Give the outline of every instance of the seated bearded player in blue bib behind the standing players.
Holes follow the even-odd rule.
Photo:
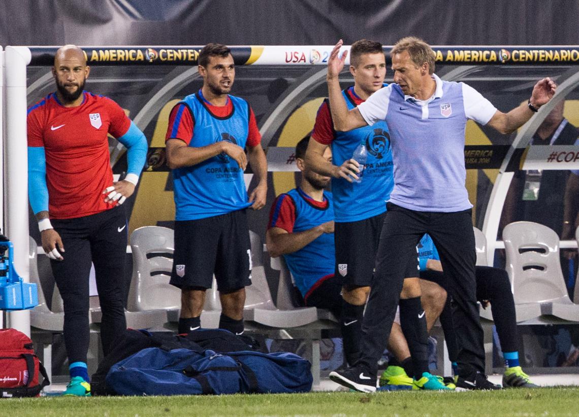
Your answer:
[[[327,308],[339,318],[342,280],[334,276],[334,202],[332,193],[324,190],[330,178],[306,167],[303,158],[308,141],[306,136],[296,145],[300,186],[273,202],[266,245],[270,256],[284,256],[305,305]],[[329,148],[324,158],[331,161]],[[349,352],[345,353],[348,357]]]

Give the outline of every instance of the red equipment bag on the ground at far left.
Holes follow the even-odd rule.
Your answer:
[[[16,329],[0,329],[0,398],[38,397],[49,384],[30,338]]]

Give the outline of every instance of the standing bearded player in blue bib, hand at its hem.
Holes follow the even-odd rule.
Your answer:
[[[245,286],[251,285],[245,208],[265,205],[267,163],[254,113],[244,99],[229,95],[235,78],[229,48],[205,46],[199,73],[203,87],[175,105],[166,135],[175,190],[171,284],[182,293],[178,331],[201,326],[205,292],[215,275],[219,327],[241,334]],[[243,179],[248,160],[258,184],[249,196]]]

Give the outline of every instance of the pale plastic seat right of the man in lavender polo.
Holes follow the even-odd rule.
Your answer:
[[[559,237],[543,224],[515,222],[503,230],[507,272],[517,321],[553,315],[579,321],[579,305],[567,294],[559,260]]]

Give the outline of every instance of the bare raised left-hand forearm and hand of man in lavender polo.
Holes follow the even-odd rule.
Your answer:
[[[328,58],[328,75],[326,76],[328,82],[329,109],[332,113],[332,120],[334,120],[334,128],[338,131],[353,130],[368,124],[360,114],[360,110],[357,108],[348,110],[346,101],[342,97],[339,76],[344,68],[344,62],[348,54],[347,51],[344,51],[342,56],[338,57],[340,47],[342,47],[343,43],[343,40],[340,39],[338,43],[336,43],[336,46],[334,46],[334,49],[332,49],[332,53]]]

